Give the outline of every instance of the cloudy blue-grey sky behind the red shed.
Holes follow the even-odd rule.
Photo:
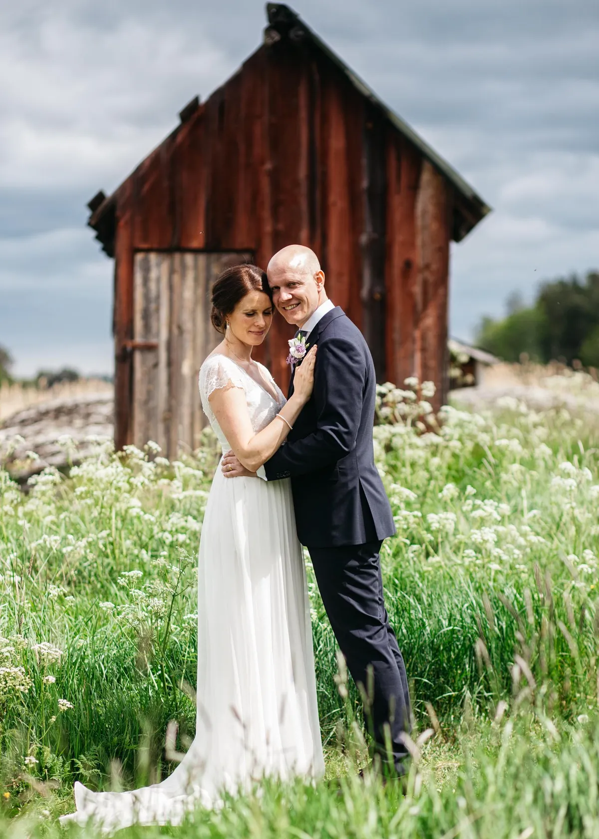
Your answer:
[[[494,211],[452,246],[451,333],[599,268],[596,0],[295,0]],[[0,344],[14,373],[112,372],[112,261],[86,227],[260,43],[255,0],[0,3]]]

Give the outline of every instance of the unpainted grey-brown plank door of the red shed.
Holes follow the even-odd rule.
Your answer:
[[[201,362],[221,341],[211,325],[211,288],[252,253],[143,252],[133,273],[133,443],[159,444],[172,459],[200,444],[205,416]]]

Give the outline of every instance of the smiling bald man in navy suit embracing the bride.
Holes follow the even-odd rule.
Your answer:
[[[375,750],[404,774],[410,731],[404,659],[383,602],[379,552],[395,533],[383,482],[374,465],[376,379],[362,333],[326,296],[325,274],[310,248],[289,245],[268,263],[273,304],[318,345],[314,391],[287,442],[258,470],[268,481],[290,477],[300,542],[310,553],[333,632],[352,678],[372,691]],[[291,376],[289,395],[293,393]],[[232,466],[232,470],[229,470]],[[230,452],[227,477],[243,473]],[[372,671],[372,674],[371,672]]]

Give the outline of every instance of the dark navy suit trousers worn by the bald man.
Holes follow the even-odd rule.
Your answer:
[[[400,735],[411,731],[409,688],[404,659],[383,600],[381,545],[382,542],[374,541],[331,548],[307,547],[347,669],[357,685],[363,685],[367,692],[372,688],[364,718],[373,737],[374,751],[383,763],[388,763],[388,729],[394,769],[404,774],[409,753]]]

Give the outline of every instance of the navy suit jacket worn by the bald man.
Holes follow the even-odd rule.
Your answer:
[[[291,478],[303,545],[326,548],[385,539],[395,526],[374,465],[376,378],[370,350],[339,306],[310,332],[307,345],[314,344],[314,391],[286,443],[264,464],[266,477]]]

